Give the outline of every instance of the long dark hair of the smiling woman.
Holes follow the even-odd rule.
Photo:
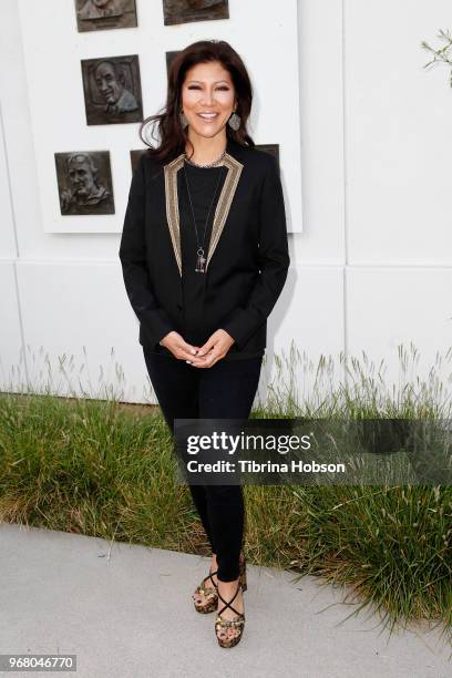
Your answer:
[[[147,154],[153,158],[158,161],[172,160],[185,152],[186,143],[189,143],[189,141],[179,120],[182,84],[186,72],[192,66],[208,61],[219,61],[229,72],[235,88],[236,113],[240,117],[240,126],[235,131],[227,124],[226,135],[244,146],[255,145],[246,129],[251,110],[253,88],[242,58],[224,40],[199,40],[186,47],[175,56],[168,72],[166,105],[161,109],[161,113],[157,115],[146,117],[140,126],[140,137],[146,146],[150,146]],[[148,124],[152,124],[153,132],[157,126],[161,140],[157,148],[144,136],[143,131]],[[155,140],[153,132],[151,137]]]

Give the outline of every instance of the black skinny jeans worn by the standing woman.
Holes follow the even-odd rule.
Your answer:
[[[165,421],[174,434],[174,419],[248,419],[259,383],[263,358],[218,360],[196,368],[185,360],[152,353],[143,347],[147,372]],[[218,578],[234,582],[239,574],[244,535],[240,485],[188,485],[217,556]]]

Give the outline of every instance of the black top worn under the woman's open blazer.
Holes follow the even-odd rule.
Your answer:
[[[207,257],[215,209],[226,174],[227,167],[224,165],[216,167],[196,167],[186,161],[184,162],[184,167],[177,174],[184,314],[184,332],[182,336],[188,343],[199,347],[208,339],[208,335],[206,335],[203,323],[204,295],[208,273],[205,274],[195,270],[197,264],[197,243],[199,242],[204,249],[204,257]],[[192,198],[193,212],[188,197],[187,184]],[[196,219],[197,237],[193,214]],[[240,360],[264,356],[264,349],[238,353],[234,351],[233,347],[234,345],[223,360]],[[161,350],[162,348],[164,349],[163,351]],[[172,352],[165,347],[158,347],[157,352],[174,358]]]

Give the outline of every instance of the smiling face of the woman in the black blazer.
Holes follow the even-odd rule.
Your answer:
[[[235,107],[235,89],[229,72],[222,63],[209,61],[189,69],[181,94],[189,137],[225,134]]]

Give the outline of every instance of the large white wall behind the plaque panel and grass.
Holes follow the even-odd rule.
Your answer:
[[[420,352],[413,380],[451,345],[452,90],[445,68],[423,70],[420,49],[450,19],[446,0],[299,0],[304,232],[289,236],[292,265],[269,320],[263,396],[273,352],[291,340],[314,369],[331,355],[335,379],[343,352],[383,359],[388,384],[399,378],[399,343]],[[33,388],[50,369],[52,392],[101,394],[106,382],[144,401],[120,235],[44,233],[16,0],[3,0],[0,31],[0,388],[22,350],[20,373]],[[299,373],[301,398],[312,380]]]

